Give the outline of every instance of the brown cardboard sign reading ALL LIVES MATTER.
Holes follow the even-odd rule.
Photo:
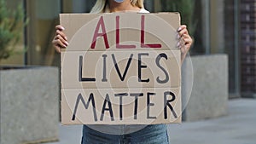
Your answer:
[[[61,124],[181,122],[179,14],[61,14],[61,26]]]

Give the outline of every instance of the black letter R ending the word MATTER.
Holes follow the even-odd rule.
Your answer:
[[[174,111],[172,105],[170,104],[172,101],[175,101],[176,96],[171,91],[166,91],[164,95],[165,95],[165,100],[164,100],[164,104],[165,104],[165,110],[164,110],[165,119],[167,119],[167,117],[168,117],[167,116],[167,107],[169,107],[171,109],[171,112],[172,112],[174,118],[177,118],[177,114]],[[172,95],[172,100],[167,100],[167,95]]]

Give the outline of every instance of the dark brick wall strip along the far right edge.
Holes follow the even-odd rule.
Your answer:
[[[256,1],[241,0],[240,7],[241,92],[256,94]]]

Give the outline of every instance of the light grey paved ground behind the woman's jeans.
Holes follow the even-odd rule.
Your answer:
[[[172,144],[256,144],[256,99],[229,101],[229,115],[168,125]],[[60,126],[60,141],[79,144],[81,126]]]

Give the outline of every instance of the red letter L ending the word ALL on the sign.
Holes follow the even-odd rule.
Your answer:
[[[142,48],[161,48],[161,44],[145,44],[145,15],[142,15],[141,21],[141,47]]]

